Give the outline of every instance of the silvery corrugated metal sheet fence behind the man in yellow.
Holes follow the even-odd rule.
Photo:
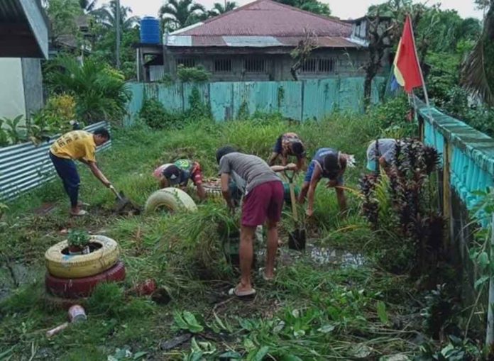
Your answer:
[[[106,122],[94,123],[84,130],[92,132],[101,127],[110,130],[110,125]],[[0,201],[15,199],[23,192],[55,177],[55,169],[48,157],[48,150],[57,138],[56,135],[40,145],[22,143],[0,148]],[[98,147],[97,151],[110,147],[111,140]]]

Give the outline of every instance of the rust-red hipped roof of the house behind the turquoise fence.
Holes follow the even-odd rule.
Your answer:
[[[351,25],[348,23],[271,0],[254,1],[172,35],[297,36],[304,35],[307,30],[317,36],[348,38],[351,35]]]

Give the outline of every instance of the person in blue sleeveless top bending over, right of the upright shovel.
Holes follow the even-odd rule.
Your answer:
[[[317,184],[322,178],[329,179],[327,188],[334,188],[336,198],[341,212],[346,211],[346,197],[343,189],[343,174],[346,167],[354,167],[355,157],[333,148],[320,148],[309,164],[309,169],[305,173],[304,183],[300,189],[299,203],[303,204],[307,195],[307,216],[314,213],[314,194]]]

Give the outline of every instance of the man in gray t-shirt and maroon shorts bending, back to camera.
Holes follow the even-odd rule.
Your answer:
[[[234,210],[234,203],[229,191],[230,177],[236,184],[245,184],[245,195],[242,204],[240,231],[240,270],[241,279],[238,285],[230,289],[229,294],[238,297],[253,296],[256,290],[251,283],[251,265],[253,260],[253,239],[257,226],[267,223],[268,252],[264,279],[273,279],[275,255],[278,249],[278,222],[281,218],[285,191],[281,179],[275,172],[295,170],[296,165],[269,165],[256,155],[237,152],[235,148],[226,146],[216,151],[216,161],[221,175],[221,192],[226,204]]]

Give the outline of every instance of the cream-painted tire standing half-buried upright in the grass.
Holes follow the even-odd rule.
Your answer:
[[[194,199],[190,195],[178,188],[163,188],[151,194],[146,201],[144,209],[146,212],[154,212],[159,208],[165,208],[172,212],[197,211]]]

